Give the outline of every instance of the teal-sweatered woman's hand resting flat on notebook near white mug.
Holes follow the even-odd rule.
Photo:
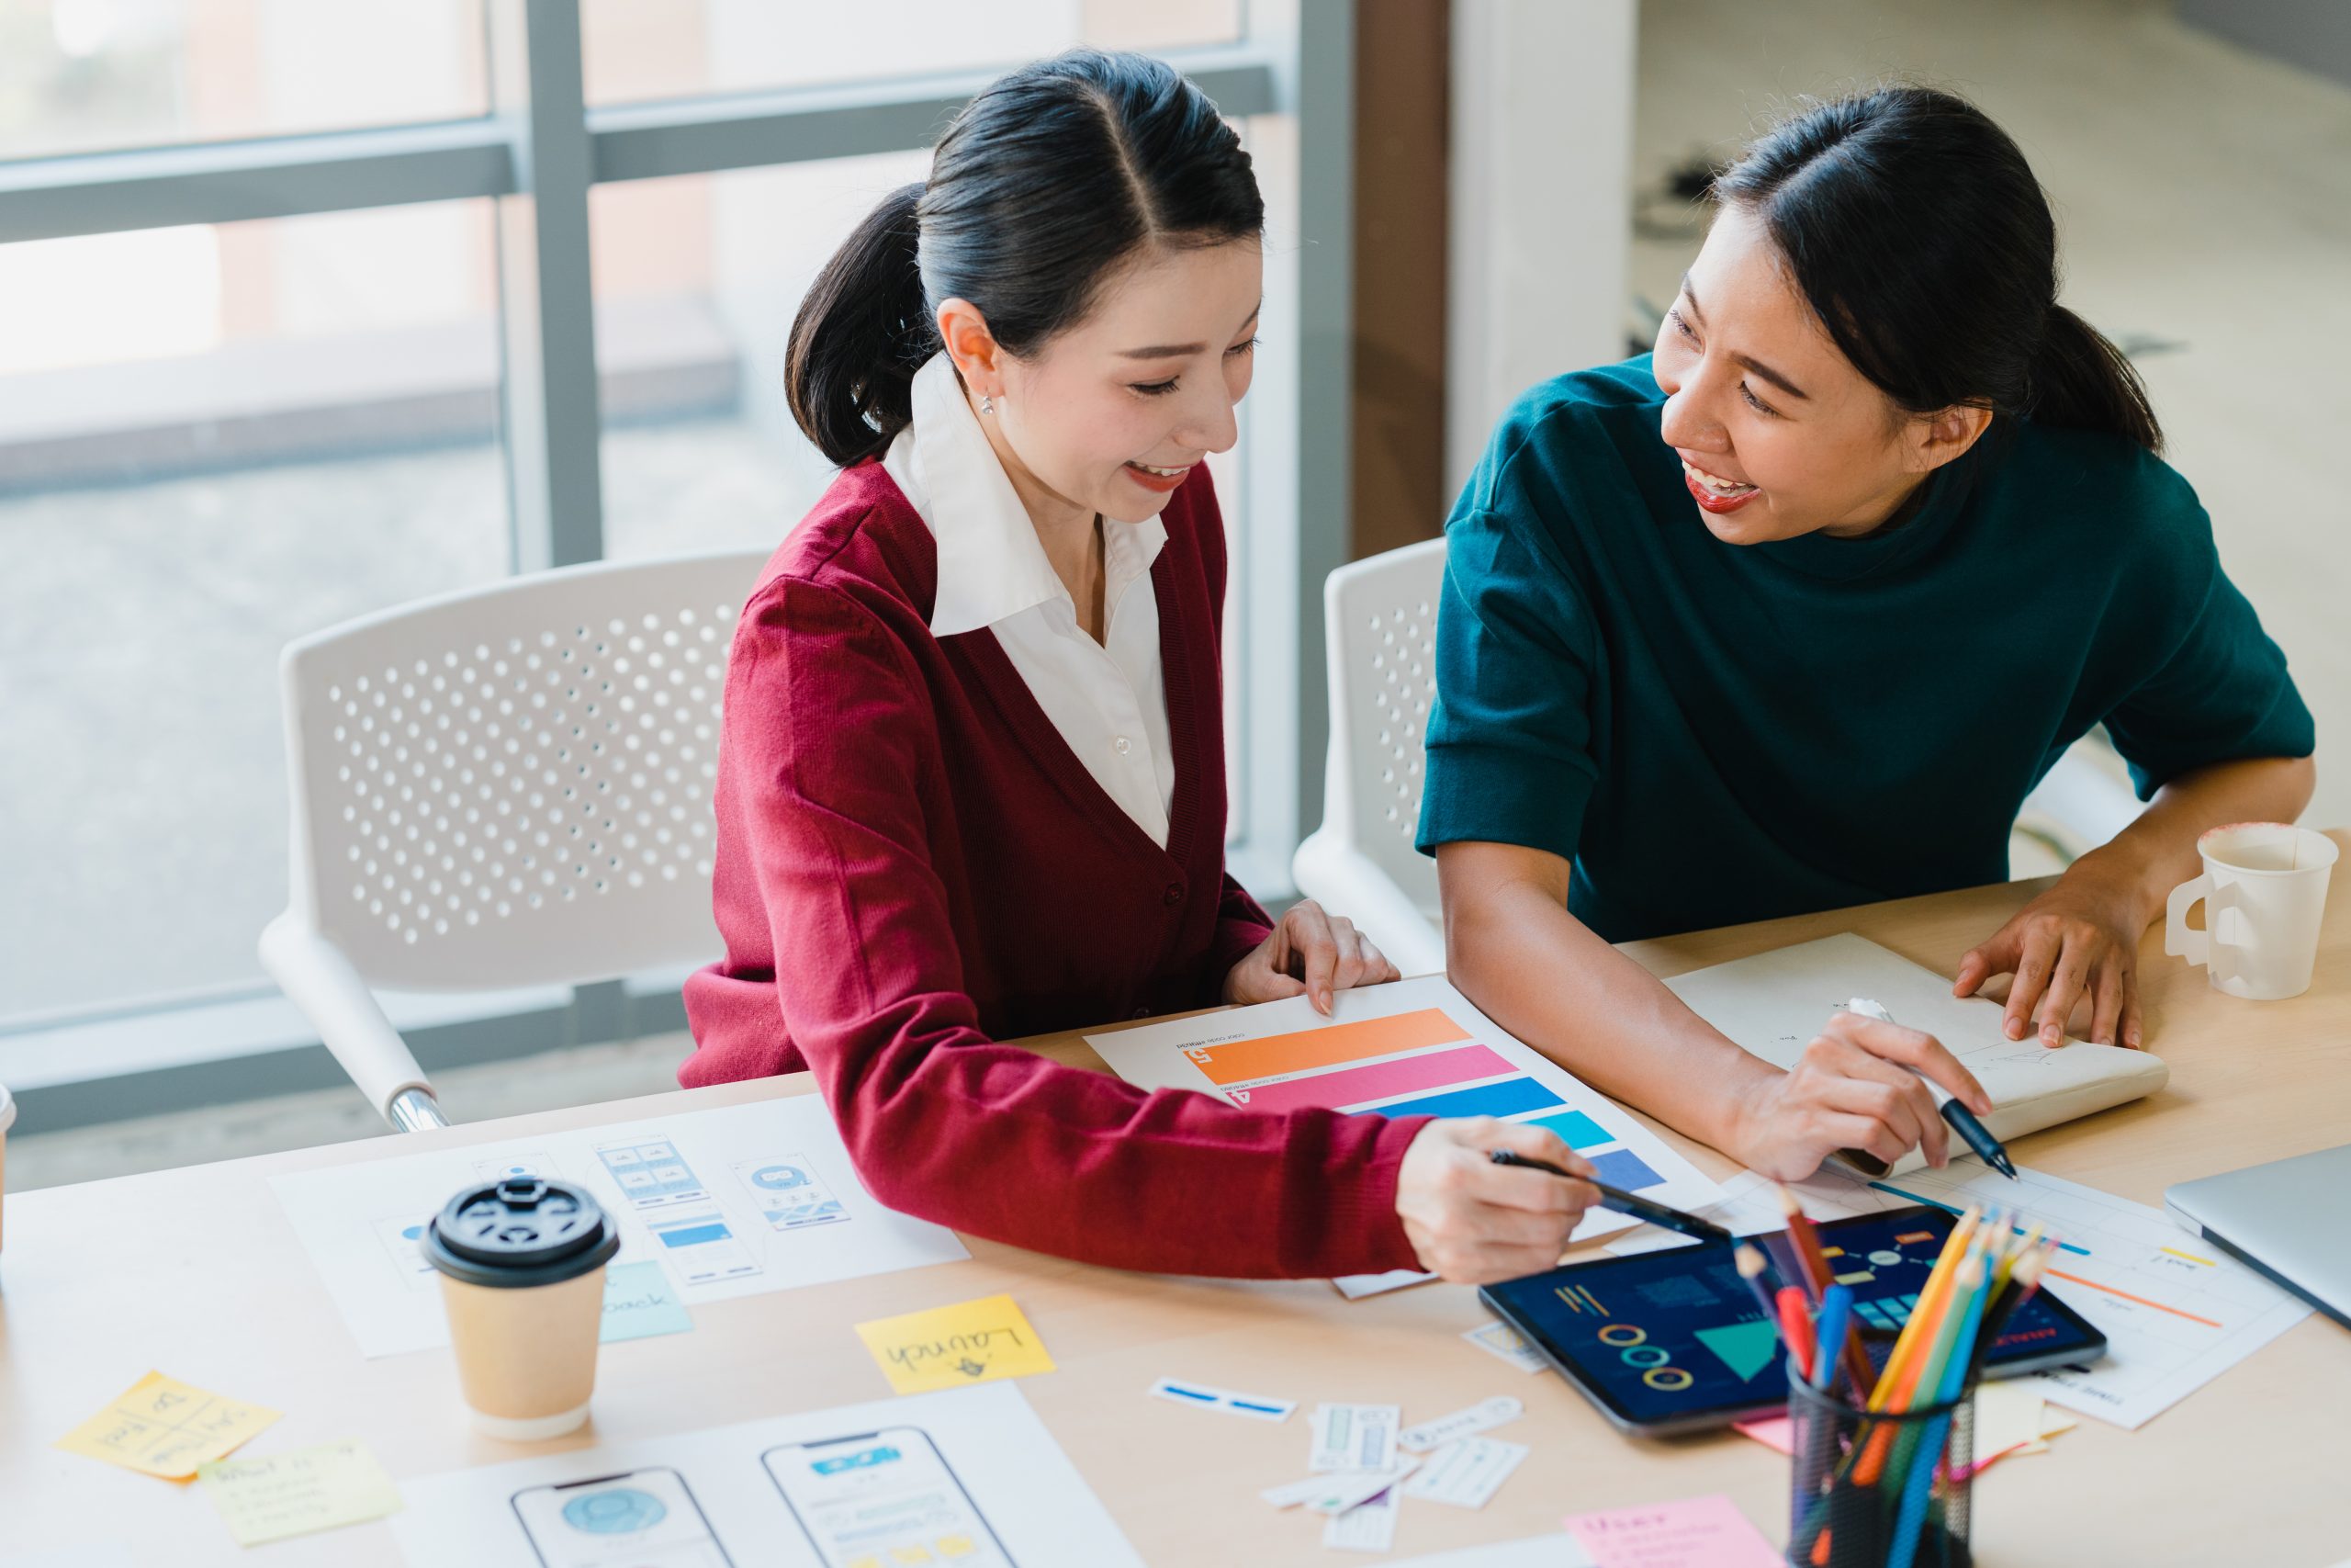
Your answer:
[[[1958,961],[1951,994],[1972,997],[1984,980],[2012,973],[2008,1039],[2038,1027],[2043,1046],[2062,1046],[2074,1006],[2088,1001],[2090,1039],[2137,1051],[2139,938],[2149,919],[2137,879],[2109,875],[2090,858],[2076,860],[2057,886]]]

